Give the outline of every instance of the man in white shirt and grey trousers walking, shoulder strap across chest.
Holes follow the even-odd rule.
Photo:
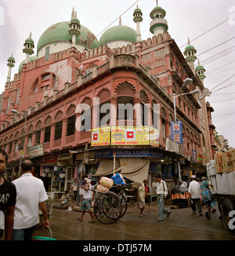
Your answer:
[[[157,207],[158,207],[158,222],[163,221],[163,214],[167,214],[167,218],[169,218],[170,214],[172,213],[168,209],[164,207],[164,198],[168,195],[168,189],[165,181],[161,180],[161,175],[157,174],[155,176],[157,183]]]

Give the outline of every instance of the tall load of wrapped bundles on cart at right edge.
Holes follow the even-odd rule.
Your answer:
[[[235,149],[216,153],[206,167],[212,194],[235,195]]]

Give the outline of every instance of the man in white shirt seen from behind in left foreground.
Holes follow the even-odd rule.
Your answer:
[[[16,207],[14,214],[12,240],[31,240],[34,226],[38,224],[38,204],[41,207],[44,221],[43,227],[49,227],[45,200],[48,196],[42,180],[31,172],[33,164],[27,159],[21,163],[21,177],[13,181],[16,185]]]

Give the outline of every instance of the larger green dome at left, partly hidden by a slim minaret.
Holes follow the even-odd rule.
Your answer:
[[[63,21],[49,27],[39,38],[37,50],[39,51],[43,46],[53,42],[70,42],[72,35],[69,35],[68,32],[70,30],[69,24],[69,21]],[[77,43],[92,49],[99,46],[96,36],[87,27],[81,25],[80,33]]]

